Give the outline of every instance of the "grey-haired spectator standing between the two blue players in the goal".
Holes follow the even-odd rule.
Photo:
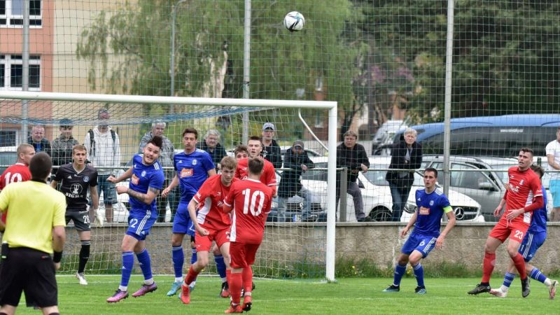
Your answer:
[[[164,167],[164,171],[163,171],[165,174],[164,185],[169,186],[169,181],[171,181],[173,179],[173,176],[175,176],[175,172],[173,169],[173,156],[174,156],[175,148],[171,140],[169,140],[169,138],[163,135],[163,132],[165,132],[165,127],[167,127],[166,123],[153,123],[152,130],[146,132],[146,134],[144,134],[144,137],[142,137],[142,139],[140,140],[140,148],[138,150],[138,153],[139,154],[144,153],[144,147],[154,136],[162,137],[163,144],[162,144],[162,150],[160,151],[159,160],[162,167]],[[171,209],[172,212],[174,212],[175,209],[177,209],[178,197],[179,196],[177,195],[176,188],[169,192],[169,196],[167,197],[167,200],[169,200],[169,209]],[[167,211],[167,200],[158,197],[158,201],[156,202],[158,206],[157,222],[160,223],[165,222],[165,213]]]

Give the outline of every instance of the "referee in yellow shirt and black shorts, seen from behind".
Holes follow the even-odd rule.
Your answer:
[[[59,314],[55,268],[66,239],[66,200],[46,183],[51,168],[48,154],[37,153],[29,162],[31,181],[10,184],[0,193],[0,211],[10,208],[1,251],[0,315],[15,313],[22,291],[27,307]]]

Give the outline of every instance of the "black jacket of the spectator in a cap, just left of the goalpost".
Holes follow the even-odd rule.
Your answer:
[[[302,165],[307,166],[308,169],[315,167],[307,152],[303,151],[302,154],[297,155],[293,153],[292,148],[288,148],[286,155],[284,155],[284,167],[287,170],[282,172],[282,178],[278,186],[278,197],[289,198],[302,189],[302,182],[300,181],[300,176],[303,173]]]

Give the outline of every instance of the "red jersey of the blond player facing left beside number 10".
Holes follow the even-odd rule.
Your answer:
[[[233,183],[239,179],[233,179]],[[230,228],[230,214],[223,212],[223,200],[230,193],[230,186],[224,186],[222,175],[214,175],[204,181],[193,199],[198,204],[197,222],[203,228],[223,230]]]

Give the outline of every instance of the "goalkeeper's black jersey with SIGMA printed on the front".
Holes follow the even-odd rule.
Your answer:
[[[60,192],[66,197],[66,211],[85,211],[87,190],[97,186],[97,169],[85,165],[78,172],[72,163],[68,163],[58,169],[55,181],[60,183]]]

